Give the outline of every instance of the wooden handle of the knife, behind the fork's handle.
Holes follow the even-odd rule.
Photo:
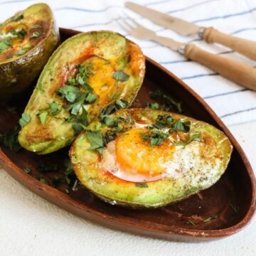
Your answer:
[[[230,36],[213,27],[204,29],[203,40],[207,43],[220,43],[223,46],[227,46],[228,48],[245,55],[247,58],[256,60],[256,41],[238,38],[237,36]]]

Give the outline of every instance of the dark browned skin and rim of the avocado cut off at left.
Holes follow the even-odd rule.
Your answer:
[[[58,27],[55,25],[50,7],[47,4],[34,4],[29,6],[28,9],[33,10],[35,7],[48,10],[51,29],[47,31],[46,37],[35,48],[29,50],[28,53],[21,55],[20,58],[7,60],[0,64],[1,101],[18,97],[19,92],[26,90],[36,80],[53,50],[60,43]]]

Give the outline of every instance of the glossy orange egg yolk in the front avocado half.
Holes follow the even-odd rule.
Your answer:
[[[114,176],[133,182],[157,181],[164,178],[175,150],[171,140],[151,146],[142,139],[145,127],[133,128],[119,135],[115,141]]]

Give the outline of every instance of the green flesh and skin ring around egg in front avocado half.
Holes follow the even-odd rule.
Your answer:
[[[114,113],[114,115],[118,114],[122,117],[125,117],[126,114],[131,114],[132,119],[134,117],[146,117],[146,119],[152,120],[156,119],[159,114],[171,114],[175,120],[186,119],[191,122],[192,127],[195,127],[193,132],[198,131],[210,134],[216,145],[209,144],[208,146],[216,147],[218,151],[215,152],[218,152],[218,156],[216,156],[216,162],[209,161],[215,159],[215,156],[213,156],[215,152],[211,152],[212,149],[209,148],[210,153],[214,154],[208,158],[208,151],[201,151],[200,156],[206,159],[206,162],[209,161],[209,166],[206,166],[205,170],[200,168],[193,169],[185,176],[178,178],[166,177],[159,181],[148,182],[148,188],[140,188],[135,186],[133,182],[122,181],[111,175],[102,175],[98,164],[100,161],[99,154],[89,149],[91,145],[87,139],[86,132],[82,132],[70,149],[71,163],[82,185],[102,201],[134,209],[159,208],[181,201],[213,186],[224,174],[230,161],[233,146],[230,144],[228,137],[212,125],[181,114],[159,110],[129,109],[119,110]],[[105,125],[102,126],[100,122],[93,122],[88,128],[92,130],[100,129],[102,133],[107,131]],[[204,152],[206,154],[203,154]]]

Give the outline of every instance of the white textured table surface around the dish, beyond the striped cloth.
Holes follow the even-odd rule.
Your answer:
[[[230,127],[256,169],[256,122]],[[256,218],[229,238],[198,244],[143,238],[61,210],[0,170],[0,255],[256,255]]]

